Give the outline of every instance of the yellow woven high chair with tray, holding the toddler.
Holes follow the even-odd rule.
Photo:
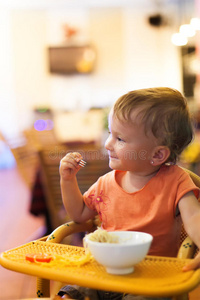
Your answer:
[[[200,177],[186,170],[200,188]],[[182,267],[193,258],[198,249],[187,237],[184,228],[177,258],[146,256],[128,275],[111,275],[103,266],[92,261],[83,266],[61,266],[30,263],[25,261],[27,253],[51,253],[71,257],[83,255],[83,247],[62,244],[66,236],[77,232],[91,232],[99,226],[98,218],[86,223],[65,223],[56,228],[48,237],[3,252],[0,263],[7,269],[37,277],[37,297],[50,296],[50,280],[66,284],[77,284],[94,289],[125,292],[149,297],[171,297],[173,300],[187,300],[188,293],[200,283],[200,269],[182,272]],[[54,293],[57,291],[54,290]],[[92,299],[91,299],[92,300]]]

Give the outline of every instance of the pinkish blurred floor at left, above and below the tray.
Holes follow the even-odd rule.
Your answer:
[[[30,190],[16,168],[0,170],[0,252],[43,235],[44,218],[29,213]],[[36,297],[36,279],[0,266],[0,300]],[[200,286],[190,293],[200,300]]]

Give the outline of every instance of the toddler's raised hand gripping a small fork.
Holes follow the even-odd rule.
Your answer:
[[[63,180],[71,180],[76,176],[80,170],[79,165],[82,156],[78,152],[71,152],[66,154],[60,161],[60,176]]]

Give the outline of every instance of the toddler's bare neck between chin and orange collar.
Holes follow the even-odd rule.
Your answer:
[[[154,170],[150,174],[140,175],[131,172],[126,172],[121,174],[119,178],[120,186],[128,193],[134,193],[141,190],[147,182],[154,177],[159,169]]]

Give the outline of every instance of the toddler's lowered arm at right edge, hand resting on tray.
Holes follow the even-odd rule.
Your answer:
[[[200,249],[200,203],[193,192],[189,192],[179,201],[179,210],[187,234]],[[200,253],[191,263],[183,267],[183,271],[200,268]]]

